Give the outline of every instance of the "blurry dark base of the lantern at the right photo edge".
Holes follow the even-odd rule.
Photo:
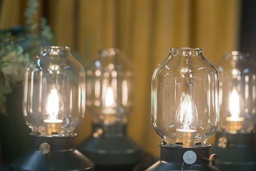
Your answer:
[[[216,142],[210,151],[219,157],[218,168],[227,171],[255,170],[255,138],[255,133],[216,132]]]

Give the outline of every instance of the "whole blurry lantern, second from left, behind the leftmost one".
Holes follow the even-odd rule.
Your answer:
[[[102,49],[86,69],[86,106],[93,133],[77,149],[96,170],[131,170],[141,160],[141,148],[126,135],[133,108],[134,70],[117,48]]]

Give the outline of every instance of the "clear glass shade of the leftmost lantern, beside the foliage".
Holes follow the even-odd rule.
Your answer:
[[[68,47],[41,47],[28,63],[24,117],[32,134],[73,135],[85,111],[85,72]]]

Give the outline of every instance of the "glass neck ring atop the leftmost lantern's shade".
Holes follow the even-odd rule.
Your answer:
[[[45,46],[40,47],[40,54],[42,56],[51,55],[58,57],[67,57],[70,54],[69,47],[61,47],[61,46]]]

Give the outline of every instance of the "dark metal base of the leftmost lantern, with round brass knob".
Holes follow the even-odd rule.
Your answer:
[[[30,149],[10,164],[9,171],[94,170],[94,163],[74,148],[75,135],[30,136]]]

